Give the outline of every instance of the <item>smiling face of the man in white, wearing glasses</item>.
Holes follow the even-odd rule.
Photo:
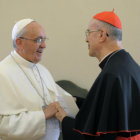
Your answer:
[[[46,48],[45,38],[43,28],[37,22],[32,22],[25,27],[25,33],[22,37],[18,38],[20,43],[17,45],[17,52],[24,59],[37,63],[41,60],[44,48]],[[37,39],[42,41],[39,43]]]

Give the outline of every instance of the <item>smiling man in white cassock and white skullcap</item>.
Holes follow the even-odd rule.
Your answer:
[[[12,40],[14,51],[0,62],[0,139],[58,140],[57,96],[69,94],[38,63],[46,48],[44,29],[20,20]]]

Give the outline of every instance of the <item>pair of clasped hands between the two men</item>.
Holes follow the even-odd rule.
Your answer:
[[[67,116],[67,113],[60,106],[59,102],[53,102],[44,109],[45,118],[50,119],[52,117],[56,117],[60,122],[62,122],[63,118]]]

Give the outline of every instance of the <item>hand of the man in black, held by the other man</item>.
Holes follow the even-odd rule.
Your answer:
[[[60,122],[62,122],[64,117],[67,116],[67,113],[64,111],[64,109],[59,104],[57,104],[56,108],[57,108],[57,113],[55,114],[55,116]]]

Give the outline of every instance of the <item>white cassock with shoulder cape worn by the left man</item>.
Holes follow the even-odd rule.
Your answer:
[[[0,138],[58,140],[58,120],[46,121],[42,110],[43,98],[50,104],[56,101],[56,96],[69,95],[64,90],[58,93],[58,88],[45,67],[11,52],[0,62]]]

